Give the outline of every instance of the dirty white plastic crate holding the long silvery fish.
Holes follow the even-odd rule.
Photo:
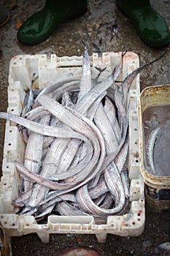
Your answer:
[[[120,62],[121,53],[97,53],[90,56],[92,75],[98,72],[95,66],[107,67],[100,79],[107,78]],[[136,53],[128,52],[124,57],[123,72],[119,80],[139,67]],[[20,115],[25,96],[24,89],[31,87],[43,89],[66,77],[82,74],[82,56],[61,57],[51,55],[20,55],[12,58],[9,64],[8,109],[9,113]],[[63,217],[51,215],[47,224],[37,224],[32,216],[13,214],[12,200],[18,197],[20,178],[15,169],[15,159],[23,160],[24,143],[16,124],[7,121],[4,139],[3,176],[0,182],[0,221],[7,235],[23,236],[37,233],[42,242],[48,242],[52,233],[95,234],[98,242],[105,242],[107,233],[117,236],[139,236],[144,231],[144,184],[139,165],[139,116],[138,101],[140,95],[139,75],[130,89],[131,105],[129,111],[129,159],[130,178],[129,212],[122,216],[109,216],[105,224],[96,224],[93,217]]]

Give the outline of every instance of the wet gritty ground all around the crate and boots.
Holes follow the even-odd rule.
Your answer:
[[[16,23],[23,22],[29,15],[41,9],[45,1],[18,0],[14,10],[10,11],[9,22],[0,29],[0,107],[7,110],[7,86],[9,61],[18,54],[55,53],[57,56],[81,56],[83,45],[81,39],[88,37],[88,52],[91,55],[98,48],[102,52],[131,50],[139,55],[140,65],[160,56],[166,48],[152,49],[144,45],[137,37],[134,26],[115,5],[115,1],[90,0],[88,12],[75,20],[67,20],[56,29],[55,33],[39,45],[28,46],[18,42]],[[154,0],[153,6],[166,19],[170,26],[169,1]],[[117,34],[112,28],[117,26]],[[148,67],[140,75],[141,90],[147,86],[169,84],[169,55]],[[4,124],[0,124],[0,154],[2,158],[4,143]],[[146,226],[144,233],[138,237],[107,236],[105,244],[99,244],[94,235],[52,235],[49,244],[42,244],[36,234],[12,238],[12,255],[50,255],[66,246],[90,246],[101,255],[161,255],[155,249],[158,244],[170,241],[169,211],[155,212],[146,206]]]

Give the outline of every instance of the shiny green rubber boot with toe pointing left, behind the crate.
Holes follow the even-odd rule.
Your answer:
[[[64,20],[83,15],[87,5],[87,0],[47,0],[42,10],[20,26],[18,40],[28,45],[45,41]]]

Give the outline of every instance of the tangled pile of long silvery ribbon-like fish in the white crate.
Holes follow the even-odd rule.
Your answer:
[[[85,45],[82,75],[57,81],[26,97],[20,116],[0,113],[19,125],[26,143],[15,213],[37,220],[50,214],[106,219],[127,211],[129,203],[128,111],[134,70],[123,82],[120,64],[103,81],[92,79]]]

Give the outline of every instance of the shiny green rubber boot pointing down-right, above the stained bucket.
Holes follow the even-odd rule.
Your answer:
[[[131,18],[137,34],[146,45],[156,48],[170,42],[166,20],[151,7],[149,0],[117,0],[117,7]]]

